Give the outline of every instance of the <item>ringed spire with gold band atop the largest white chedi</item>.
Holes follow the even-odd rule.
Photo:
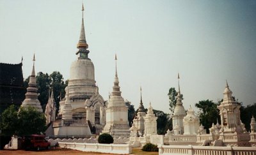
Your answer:
[[[90,51],[86,50],[88,48],[88,44],[86,42],[85,31],[84,31],[84,4],[82,5],[82,26],[81,26],[79,41],[77,43],[77,48],[79,50],[76,52],[76,54],[79,54],[79,58],[88,59],[88,54]]]

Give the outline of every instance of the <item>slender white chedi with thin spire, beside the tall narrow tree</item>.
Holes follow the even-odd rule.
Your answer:
[[[172,126],[173,126],[174,135],[182,135],[184,133],[183,118],[186,116],[186,111],[182,104],[182,96],[180,94],[179,79],[180,79],[180,75],[178,73],[179,91],[177,94],[176,107],[174,108],[174,112],[172,116]]]

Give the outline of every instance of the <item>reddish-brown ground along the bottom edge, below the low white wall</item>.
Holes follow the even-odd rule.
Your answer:
[[[57,155],[57,154],[63,154],[63,155],[69,155],[69,154],[99,154],[99,155],[109,155],[104,153],[95,153],[95,152],[82,152],[82,151],[76,151],[71,149],[51,149],[51,150],[42,150],[42,151],[24,151],[24,150],[0,150],[0,155],[16,155],[16,154],[26,154],[26,155],[45,155],[45,154],[51,154],[51,155]],[[150,154],[150,155],[156,155],[158,152],[144,152],[141,151],[141,148],[133,148],[132,154]]]

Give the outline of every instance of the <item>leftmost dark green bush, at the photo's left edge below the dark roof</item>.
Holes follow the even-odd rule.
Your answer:
[[[10,105],[1,114],[1,135],[17,135],[19,129],[19,118],[15,105]]]

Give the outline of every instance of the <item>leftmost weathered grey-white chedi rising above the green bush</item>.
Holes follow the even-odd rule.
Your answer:
[[[38,93],[37,93],[37,86],[36,86],[36,75],[35,75],[35,54],[33,57],[33,68],[31,75],[29,77],[29,83],[27,92],[25,94],[26,98],[22,102],[22,105],[20,107],[34,107],[38,112],[43,112],[42,106],[40,104],[40,101],[38,100]]]

